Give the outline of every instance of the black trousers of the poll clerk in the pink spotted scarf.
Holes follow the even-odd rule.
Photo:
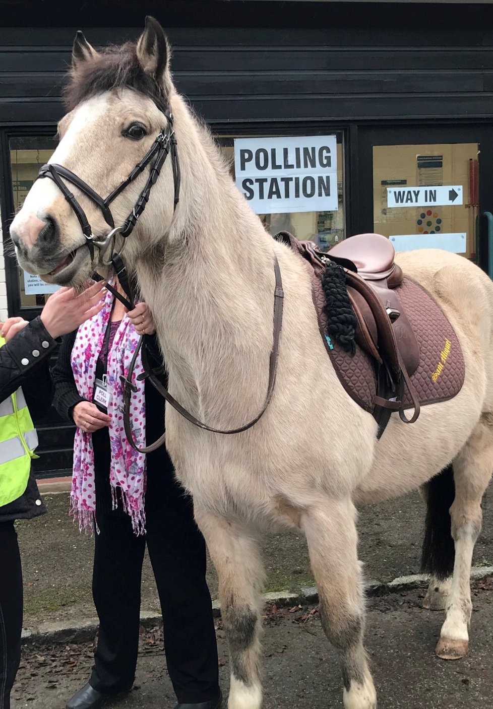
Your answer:
[[[218,696],[218,657],[205,542],[192,500],[177,484],[164,451],[148,456],[145,537],[137,537],[121,505],[111,509],[109,447],[93,435],[96,522],[93,596],[99,640],[90,679],[94,689],[131,688],[138,652],[140,580],[147,544],[160,597],[167,669],[177,700],[200,703]]]

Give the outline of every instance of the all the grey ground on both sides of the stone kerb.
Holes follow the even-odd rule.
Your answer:
[[[23,659],[12,709],[63,709],[89,676],[96,619],[91,597],[91,535],[67,516],[67,493],[47,493],[48,515],[18,523],[25,582]],[[456,662],[435,657],[443,613],[421,608],[426,580],[396,576],[419,572],[424,509],[412,493],[360,510],[360,558],[368,586],[366,644],[379,709],[476,709],[493,706],[493,504],[483,503],[484,525],[473,574],[475,613],[470,655]],[[267,568],[263,709],[342,707],[336,652],[321,631],[304,537],[296,531],[265,535]],[[208,582],[217,597],[209,564]],[[187,592],[186,588],[183,590]],[[291,595],[289,595],[291,594]],[[384,595],[382,595],[384,594]],[[279,601],[272,607],[272,599]],[[160,607],[145,559],[143,627],[135,688],[118,706],[172,709],[175,697],[162,652]],[[221,686],[228,688],[228,652],[216,618]]]

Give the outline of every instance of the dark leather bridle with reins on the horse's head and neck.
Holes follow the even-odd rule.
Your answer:
[[[160,108],[160,106],[157,106]],[[66,167],[63,167],[62,165],[55,164],[55,163],[47,163],[43,165],[43,167],[40,168],[40,171],[38,173],[38,179],[41,179],[43,177],[49,177],[50,179],[55,182],[55,184],[58,186],[60,191],[62,192],[63,196],[65,196],[65,199],[67,202],[70,204],[72,207],[75,216],[77,216],[77,219],[79,220],[79,224],[82,228],[82,233],[84,234],[84,238],[86,240],[87,247],[89,248],[89,253],[91,255],[91,259],[94,260],[94,247],[97,247],[101,253],[104,254],[106,252],[107,248],[109,247],[111,241],[113,240],[113,248],[114,248],[114,242],[115,242],[115,236],[116,234],[120,234],[123,237],[123,245],[125,244],[126,238],[131,235],[133,228],[135,227],[135,224],[137,223],[138,218],[140,215],[143,213],[146,204],[149,201],[149,196],[150,196],[150,190],[153,187],[153,184],[155,184],[157,178],[159,177],[159,174],[161,172],[162,165],[164,164],[167,156],[170,154],[172,155],[172,162],[173,162],[173,181],[175,184],[175,197],[174,197],[174,205],[173,205],[173,211],[176,210],[177,203],[179,201],[179,187],[180,187],[180,170],[179,170],[179,160],[178,160],[178,152],[177,152],[177,140],[175,137],[175,131],[173,130],[173,115],[171,111],[163,110],[160,108],[162,113],[165,114],[168,125],[167,128],[162,128],[160,133],[157,135],[155,138],[155,141],[153,145],[151,145],[150,150],[148,151],[147,155],[143,157],[143,160],[139,162],[138,165],[134,167],[132,170],[131,174],[128,175],[126,180],[123,180],[121,184],[116,187],[116,189],[113,189],[111,194],[109,194],[106,199],[103,199],[99,194],[97,194],[92,187],[90,187],[87,182],[84,182],[83,179],[78,177],[74,172],[71,170],[67,169]],[[110,204],[111,202],[118,197],[119,194],[123,192],[126,187],[135,180],[138,175],[140,175],[141,172],[150,165],[150,172],[149,172],[149,177],[147,181],[145,182],[145,186],[143,190],[140,193],[140,196],[138,200],[135,202],[135,206],[133,207],[131,213],[128,215],[126,218],[125,222],[121,226],[115,227],[115,222],[113,219],[113,215],[111,214],[111,209],[110,209]],[[104,217],[104,220],[106,221],[106,224],[108,224],[111,227],[111,231],[109,232],[108,235],[104,239],[98,239],[92,232],[91,225],[89,224],[89,220],[87,219],[87,216],[82,209],[82,206],[80,206],[79,202],[77,199],[75,199],[74,195],[70,191],[70,189],[67,187],[65,182],[63,182],[63,179],[67,180],[67,182],[70,182],[74,184],[76,187],[78,187],[84,194],[86,194],[89,199],[91,199],[96,206],[99,207],[101,210],[101,213]],[[118,280],[121,283],[121,286],[123,287],[123,290],[126,292],[128,296],[128,300],[124,298],[121,294],[116,291],[116,289],[113,289],[113,287],[110,284],[106,284],[106,288],[111,291],[113,296],[118,298],[123,305],[128,308],[128,310],[133,310],[135,307],[133,305],[133,289],[131,287],[130,281],[128,279],[128,274],[126,271],[126,266],[125,263],[123,262],[123,259],[120,256],[120,253],[115,253],[113,251],[111,258],[109,261],[104,262],[105,265],[112,265],[113,268],[115,269],[116,275],[118,276]],[[274,387],[275,387],[275,381],[276,381],[276,374],[277,374],[277,359],[278,359],[278,354],[279,354],[279,340],[281,336],[281,329],[282,329],[282,306],[283,306],[283,300],[284,300],[284,292],[282,290],[282,278],[281,278],[281,272],[279,269],[279,263],[277,262],[277,256],[274,254],[274,272],[275,272],[275,291],[274,291],[274,318],[273,318],[273,345],[272,345],[272,350],[270,352],[270,359],[269,359],[269,381],[267,384],[267,396],[265,397],[265,402],[262,406],[262,409],[260,413],[258,413],[255,418],[253,418],[249,423],[246,423],[243,426],[240,426],[239,428],[231,428],[231,429],[220,429],[220,428],[213,428],[211,426],[206,425],[199,419],[195,418],[192,413],[189,413],[187,409],[185,409],[181,404],[179,404],[175,398],[170,394],[169,391],[167,391],[167,388],[162,384],[162,377],[165,375],[164,367],[160,367],[158,369],[152,369],[150,367],[149,361],[148,361],[148,354],[146,351],[146,347],[142,348],[143,345],[143,337],[144,335],[140,336],[140,340],[138,342],[138,346],[135,348],[135,351],[133,353],[133,357],[131,360],[131,365],[128,369],[128,376],[121,377],[121,382],[123,384],[123,423],[125,426],[125,432],[126,432],[126,437],[128,438],[128,442],[131,444],[131,446],[137,450],[140,453],[150,453],[159,448],[160,446],[164,445],[165,443],[165,434],[163,434],[157,441],[154,443],[144,447],[144,448],[139,448],[133,439],[133,432],[132,432],[132,427],[131,427],[131,418],[130,418],[130,411],[131,411],[131,397],[132,393],[137,391],[137,388],[135,384],[132,383],[132,376],[133,372],[135,369],[135,363],[137,361],[138,354],[140,350],[142,350],[142,362],[143,362],[143,368],[144,368],[144,373],[139,375],[139,379],[149,379],[150,383],[153,384],[155,389],[165,398],[165,400],[170,403],[170,406],[175,408],[178,413],[180,413],[184,418],[186,418],[190,423],[192,423],[194,426],[197,426],[198,428],[201,428],[206,431],[211,431],[214,433],[224,433],[224,434],[230,434],[230,433],[240,433],[243,431],[248,430],[251,428],[255,423],[257,423],[260,418],[262,418],[262,415],[265,413],[267,406],[269,406],[270,400],[272,398],[272,393],[274,392]]]

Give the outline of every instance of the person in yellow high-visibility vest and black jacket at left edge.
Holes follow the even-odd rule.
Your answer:
[[[50,408],[48,362],[57,338],[101,310],[102,287],[93,284],[82,294],[61,289],[31,323],[0,323],[0,709],[10,708],[21,659],[22,568],[13,523],[46,512],[31,474],[38,445],[31,415],[40,418]]]

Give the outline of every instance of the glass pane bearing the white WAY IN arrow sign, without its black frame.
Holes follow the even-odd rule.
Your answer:
[[[397,251],[441,248],[475,259],[477,143],[375,145],[375,232]]]

